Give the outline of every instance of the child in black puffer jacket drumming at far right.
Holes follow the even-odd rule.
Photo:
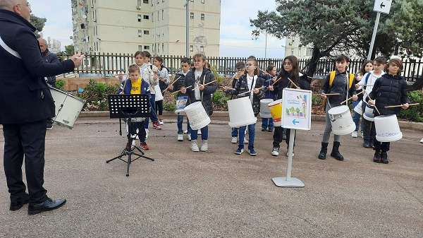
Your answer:
[[[399,74],[403,71],[403,62],[400,59],[390,59],[386,65],[385,73],[381,78],[376,79],[369,97],[366,98],[369,105],[375,105],[379,110],[375,110],[374,116],[400,114],[400,107],[388,107],[393,105],[403,105],[407,109],[410,99],[407,97],[407,83]],[[377,138],[374,141],[373,161],[387,164],[388,150],[390,142],[379,142]]]

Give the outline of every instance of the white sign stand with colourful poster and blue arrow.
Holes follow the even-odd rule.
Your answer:
[[[304,183],[300,179],[290,177],[293,165],[294,136],[296,129],[311,129],[312,91],[284,88],[282,103],[282,126],[290,130],[288,144],[288,164],[286,177],[276,177],[272,181],[276,186],[302,188]]]

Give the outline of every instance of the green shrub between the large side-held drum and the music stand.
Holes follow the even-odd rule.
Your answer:
[[[86,100],[83,109],[107,111],[109,110],[107,96],[109,94],[118,93],[119,86],[118,84],[108,85],[105,83],[97,83],[93,79],[90,79],[90,83],[84,88],[84,91],[77,95]]]

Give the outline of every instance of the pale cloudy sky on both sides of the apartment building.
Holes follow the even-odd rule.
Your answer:
[[[61,49],[68,44],[73,44],[69,38],[72,32],[71,0],[28,0],[31,4],[32,14],[47,18],[42,30],[44,38],[59,40]],[[181,5],[185,0],[181,1]],[[208,0],[218,1],[218,0]],[[221,0],[221,31],[220,31],[220,56],[221,57],[247,57],[254,55],[257,58],[283,58],[285,40],[275,37],[260,36],[252,40],[250,18],[257,18],[257,10],[273,11],[276,8],[274,0]],[[266,52],[266,54],[265,54]]]

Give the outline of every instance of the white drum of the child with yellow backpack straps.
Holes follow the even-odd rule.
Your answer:
[[[332,107],[328,113],[334,134],[342,136],[355,131],[355,123],[348,106]]]

